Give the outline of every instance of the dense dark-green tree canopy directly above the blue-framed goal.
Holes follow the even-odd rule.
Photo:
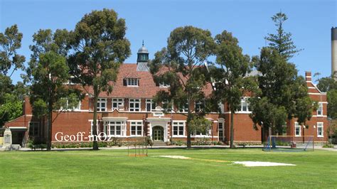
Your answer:
[[[297,75],[295,65],[287,63],[271,48],[262,48],[260,57],[253,58],[253,62],[260,72],[257,80],[261,90],[250,99],[250,117],[255,126],[282,132],[287,119],[293,117],[305,124],[316,104],[308,95],[304,78]]]

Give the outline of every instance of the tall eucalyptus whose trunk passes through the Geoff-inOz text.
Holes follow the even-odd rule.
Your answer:
[[[125,20],[112,9],[85,14],[72,32],[73,55],[69,59],[73,82],[83,88],[92,87],[93,149],[97,144],[97,100],[100,92],[112,92],[119,65],[130,55],[130,43],[125,38]]]

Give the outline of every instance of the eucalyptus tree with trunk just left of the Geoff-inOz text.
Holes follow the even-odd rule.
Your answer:
[[[55,32],[50,29],[39,30],[34,33],[34,44],[30,46],[32,54],[26,70],[31,82],[30,99],[33,115],[48,117],[48,151],[51,149],[52,127],[55,120],[53,112],[59,112],[61,107],[67,109],[75,107],[80,100],[80,92],[65,85],[70,79],[66,61],[69,50],[68,39],[66,30]]]

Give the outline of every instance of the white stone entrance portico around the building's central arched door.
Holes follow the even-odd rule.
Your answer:
[[[154,136],[152,136],[154,127],[158,128],[160,126],[163,128],[162,130],[164,131],[163,136],[164,142],[169,141],[168,133],[169,133],[169,122],[171,121],[170,118],[150,117],[147,118],[146,121],[149,123],[147,135],[150,136],[152,140],[154,140]],[[158,138],[159,136],[157,136],[157,134],[161,134],[161,132],[156,131],[156,140],[159,140]]]

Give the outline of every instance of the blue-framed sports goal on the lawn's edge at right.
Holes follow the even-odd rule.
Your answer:
[[[263,151],[314,151],[314,136],[268,136]]]

